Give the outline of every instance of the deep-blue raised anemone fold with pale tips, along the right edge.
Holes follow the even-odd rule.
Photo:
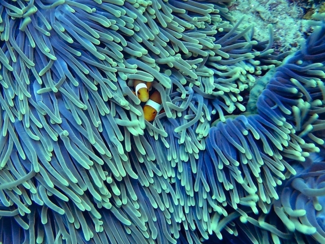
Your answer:
[[[226,199],[234,209],[238,203],[251,208],[238,211],[233,219],[239,217],[235,223],[253,243],[325,240],[324,163],[314,160],[324,155],[324,34],[324,26],[317,26],[302,50],[288,57],[271,79],[257,82],[247,106],[248,113],[256,114],[218,123],[206,139],[210,160],[204,163],[221,165],[225,176],[218,177],[220,184],[229,178],[241,180],[232,183]],[[236,171],[244,180],[235,177]],[[216,230],[220,234],[220,228]]]

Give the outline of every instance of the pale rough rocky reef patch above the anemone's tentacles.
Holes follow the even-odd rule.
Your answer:
[[[302,18],[305,9],[288,0],[238,0],[230,10],[235,20],[247,15],[242,25],[254,24],[254,38],[257,40],[268,39],[267,25],[272,24],[276,37],[280,38],[274,43],[275,51],[299,50],[304,40],[303,33],[309,27],[307,20]]]

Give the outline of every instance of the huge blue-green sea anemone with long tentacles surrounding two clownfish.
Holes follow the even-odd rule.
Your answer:
[[[280,66],[232,2],[1,2],[0,241],[201,243],[269,214],[324,143],[324,28]]]

